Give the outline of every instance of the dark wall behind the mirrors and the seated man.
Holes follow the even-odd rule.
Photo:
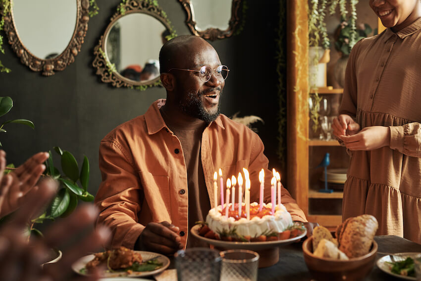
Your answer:
[[[8,124],[6,134],[0,135],[8,162],[22,163],[38,151],[53,146],[72,152],[81,163],[87,155],[91,163],[89,190],[96,193],[101,182],[98,169],[98,147],[107,132],[120,123],[146,112],[157,99],[165,97],[163,88],[139,92],[117,89],[100,81],[92,67],[93,48],[116,11],[119,0],[97,0],[100,13],[91,18],[82,50],[75,62],[51,77],[31,71],[6,43],[0,59],[12,69],[0,74],[0,96],[14,101],[11,112],[1,117],[27,118],[35,130],[20,124]],[[178,35],[190,34],[185,25],[185,11],[178,0],[158,0],[168,14]],[[265,145],[270,167],[279,168],[277,149],[277,75],[276,27],[279,7],[277,1],[247,0],[249,9],[244,30],[229,39],[210,42],[221,62],[231,69],[224,88],[222,112],[258,115],[259,135]],[[157,50],[158,52],[158,50]]]

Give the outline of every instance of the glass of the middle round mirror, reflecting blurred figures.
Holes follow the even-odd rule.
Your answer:
[[[159,50],[169,35],[155,17],[131,13],[119,18],[105,39],[106,56],[117,72],[133,81],[159,76]]]

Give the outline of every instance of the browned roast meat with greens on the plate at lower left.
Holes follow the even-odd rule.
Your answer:
[[[140,253],[126,247],[119,247],[94,254],[94,259],[86,264],[81,273],[90,272],[99,266],[106,266],[109,272],[122,271],[131,274],[156,270],[162,266],[162,263],[156,259],[143,261]]]

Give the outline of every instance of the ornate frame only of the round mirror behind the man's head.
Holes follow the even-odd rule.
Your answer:
[[[121,10],[124,12],[120,12]],[[94,49],[95,58],[92,65],[97,68],[96,73],[101,76],[101,81],[105,83],[111,83],[112,86],[117,88],[135,87],[138,90],[146,90],[148,87],[160,86],[160,77],[158,76],[145,82],[128,79],[115,70],[115,66],[111,64],[105,55],[105,43],[111,28],[114,26],[118,19],[133,13],[144,13],[156,18],[169,31],[171,37],[176,36],[175,32],[171,28],[170,22],[167,20],[166,13],[162,11],[157,3],[154,3],[154,1],[128,0],[122,5],[120,4],[117,12],[111,17],[110,23],[106,27],[104,35],[101,36],[99,44]]]

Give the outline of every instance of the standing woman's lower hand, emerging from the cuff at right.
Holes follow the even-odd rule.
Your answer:
[[[390,145],[390,130],[384,126],[365,127],[352,136],[341,136],[340,139],[349,150],[374,150]]]

